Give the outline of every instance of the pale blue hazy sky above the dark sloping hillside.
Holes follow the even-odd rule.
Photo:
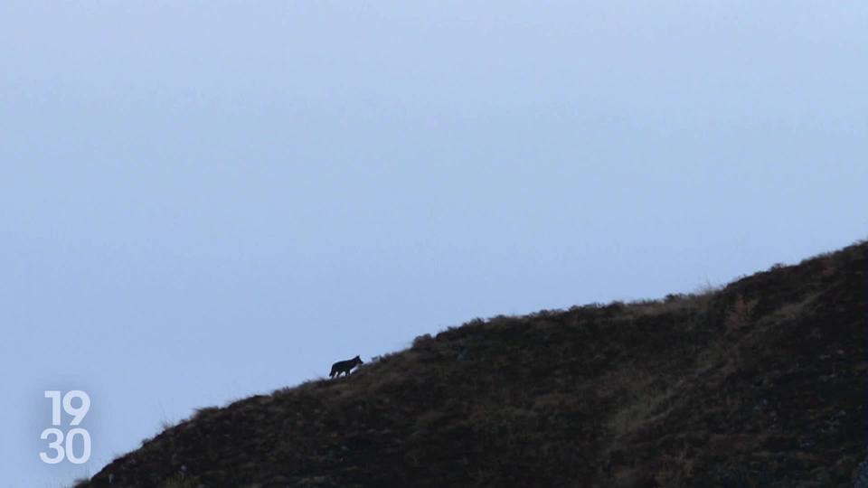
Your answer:
[[[0,485],[865,239],[866,59],[858,1],[0,2]],[[90,461],[43,464],[71,389]]]

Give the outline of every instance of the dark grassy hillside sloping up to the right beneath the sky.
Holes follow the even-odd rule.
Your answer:
[[[853,486],[866,256],[475,320],[200,410],[77,487]]]

